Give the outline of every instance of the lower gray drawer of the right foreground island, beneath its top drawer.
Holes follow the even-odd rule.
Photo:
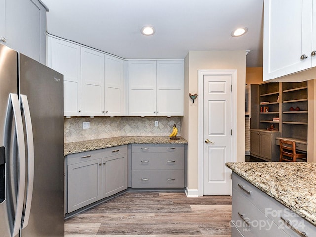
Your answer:
[[[289,237],[270,218],[233,188],[232,221],[245,237]]]

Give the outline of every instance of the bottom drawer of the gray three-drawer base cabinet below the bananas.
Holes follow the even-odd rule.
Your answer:
[[[132,170],[132,188],[183,188],[184,170]]]

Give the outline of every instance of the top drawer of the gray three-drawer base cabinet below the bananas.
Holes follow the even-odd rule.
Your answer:
[[[183,152],[184,154],[184,144],[132,144],[132,152],[167,152],[167,153],[177,153]]]

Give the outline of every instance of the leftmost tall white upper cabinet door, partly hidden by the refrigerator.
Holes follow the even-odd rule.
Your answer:
[[[80,46],[51,38],[51,68],[64,75],[64,116],[81,115]]]

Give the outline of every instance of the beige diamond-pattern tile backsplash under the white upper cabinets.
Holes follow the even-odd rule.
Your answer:
[[[155,127],[155,121],[159,126]],[[90,122],[90,129],[82,129]],[[167,117],[72,117],[64,118],[64,142],[78,142],[118,136],[169,136],[176,124],[180,136],[180,116]]]

